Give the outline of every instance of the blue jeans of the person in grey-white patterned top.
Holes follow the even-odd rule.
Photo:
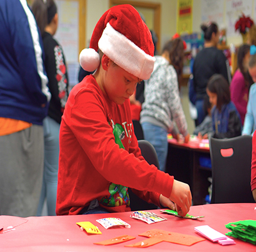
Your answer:
[[[159,169],[165,171],[166,158],[168,154],[168,140],[167,131],[162,127],[156,126],[152,123],[141,123],[144,139],[150,142],[157,154],[159,161]]]

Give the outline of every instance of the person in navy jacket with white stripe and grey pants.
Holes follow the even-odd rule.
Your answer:
[[[0,1],[0,215],[35,216],[51,93],[26,0]]]

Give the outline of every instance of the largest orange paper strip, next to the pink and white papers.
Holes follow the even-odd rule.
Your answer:
[[[184,235],[183,233],[168,232],[158,229],[148,230],[147,232],[141,233],[140,236],[148,237],[150,239],[159,239],[163,240],[164,242],[172,242],[186,246],[191,246],[197,242],[205,240],[202,237],[197,237],[194,235]]]

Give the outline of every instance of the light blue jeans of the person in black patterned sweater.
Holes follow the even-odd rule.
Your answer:
[[[41,216],[44,201],[47,201],[49,216],[56,216],[56,194],[59,168],[60,124],[47,116],[44,119],[44,178],[37,216]]]

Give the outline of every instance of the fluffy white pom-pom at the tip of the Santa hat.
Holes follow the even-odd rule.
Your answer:
[[[79,61],[84,70],[93,72],[100,65],[100,56],[94,49],[86,48],[80,52]]]

